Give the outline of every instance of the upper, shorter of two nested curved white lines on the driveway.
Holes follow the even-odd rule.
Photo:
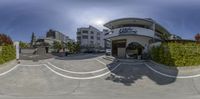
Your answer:
[[[64,72],[68,72],[68,73],[73,73],[73,74],[91,74],[91,73],[97,73],[97,72],[100,72],[100,71],[108,69],[107,67],[105,67],[103,69],[99,69],[99,70],[95,70],[95,71],[90,71],[90,72],[75,72],[75,71],[69,71],[69,70],[66,70],[66,69],[59,68],[59,67],[51,64],[50,62],[47,62],[47,64],[53,66],[54,68],[56,68],[58,70],[61,70],[61,71],[64,71]]]

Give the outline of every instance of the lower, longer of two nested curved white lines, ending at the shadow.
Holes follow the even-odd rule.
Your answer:
[[[101,75],[97,75],[97,76],[92,76],[92,77],[72,77],[72,76],[67,76],[67,75],[63,75],[61,73],[58,73],[56,72],[55,70],[51,69],[48,65],[44,64],[49,70],[51,70],[52,72],[54,72],[55,74],[59,75],[59,76],[62,76],[62,77],[65,77],[65,78],[69,78],[69,79],[76,79],[76,80],[89,80],[89,79],[95,79],[95,78],[99,78],[99,77],[102,77],[102,76],[105,76],[109,73],[111,73],[111,71],[115,70],[117,67],[119,67],[121,64],[118,64],[115,68],[113,68],[112,70],[104,73],[104,74],[101,74]]]

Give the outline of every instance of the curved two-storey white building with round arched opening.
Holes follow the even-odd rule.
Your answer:
[[[148,51],[150,44],[171,35],[152,19],[123,18],[104,26],[110,29],[105,39],[111,41],[111,54],[119,58],[138,58]]]

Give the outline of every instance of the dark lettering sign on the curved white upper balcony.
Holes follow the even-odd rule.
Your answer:
[[[137,34],[137,30],[131,27],[124,27],[119,29],[119,34]]]

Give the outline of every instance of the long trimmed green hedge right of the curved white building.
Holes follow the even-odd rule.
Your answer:
[[[168,66],[200,65],[200,44],[165,42],[151,49],[151,58]]]

